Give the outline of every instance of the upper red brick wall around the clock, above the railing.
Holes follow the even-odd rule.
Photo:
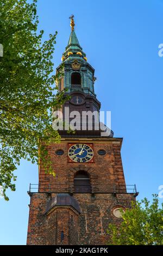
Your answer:
[[[107,142],[107,143],[106,143]],[[110,142],[110,143],[108,143]],[[49,145],[48,153],[51,156],[53,169],[56,173],[54,178],[52,175],[46,175],[42,165],[40,166],[39,182],[41,187],[51,186],[52,191],[63,192],[73,188],[74,174],[79,169],[86,170],[90,175],[91,186],[93,190],[102,192],[112,192],[112,186],[124,186],[124,174],[121,160],[121,144],[117,143],[116,139],[111,141],[93,142],[95,154],[95,163],[68,163],[67,162],[67,142],[60,144]],[[87,141],[81,143],[88,143]],[[57,149],[63,149],[64,155],[58,156],[55,154]],[[97,151],[105,149],[106,155],[99,156]]]

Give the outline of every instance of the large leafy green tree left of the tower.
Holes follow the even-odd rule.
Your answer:
[[[36,0],[1,0],[0,43],[0,191],[15,190],[14,170],[20,159],[38,161],[38,147],[46,170],[53,170],[44,143],[58,142],[52,129],[52,107],[58,109],[64,99],[57,89],[53,72],[53,52],[57,32],[42,41],[37,33]]]

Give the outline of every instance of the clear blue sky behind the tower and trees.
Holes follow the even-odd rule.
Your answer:
[[[39,29],[58,31],[55,68],[70,36],[71,14],[87,61],[95,68],[95,92],[101,110],[111,111],[114,137],[123,137],[122,161],[127,184],[137,199],[152,198],[162,179],[162,0],[39,0]],[[55,69],[54,69],[55,73]],[[0,199],[0,244],[25,245],[29,183],[37,183],[37,166],[22,161],[16,192]],[[160,203],[163,199],[160,199]]]

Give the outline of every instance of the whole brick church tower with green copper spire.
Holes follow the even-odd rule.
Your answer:
[[[57,68],[58,88],[66,97],[57,115],[64,125],[60,143],[47,146],[56,176],[45,174],[40,161],[39,184],[28,191],[27,245],[106,245],[109,223],[121,223],[120,209],[129,208],[138,194],[124,179],[122,138],[99,122],[95,70],[70,18],[70,39]],[[74,117],[76,130],[68,133]]]

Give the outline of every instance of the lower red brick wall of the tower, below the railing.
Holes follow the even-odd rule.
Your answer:
[[[52,195],[54,196],[54,194]],[[50,198],[46,193],[32,195],[30,203],[28,245],[100,245],[106,244],[109,223],[121,223],[112,214],[115,206],[130,208],[132,194],[74,194],[79,202],[79,217],[71,209],[57,209],[45,215]],[[46,200],[46,203],[45,203]],[[73,216],[73,223],[71,222]],[[61,242],[61,231],[64,241]]]

